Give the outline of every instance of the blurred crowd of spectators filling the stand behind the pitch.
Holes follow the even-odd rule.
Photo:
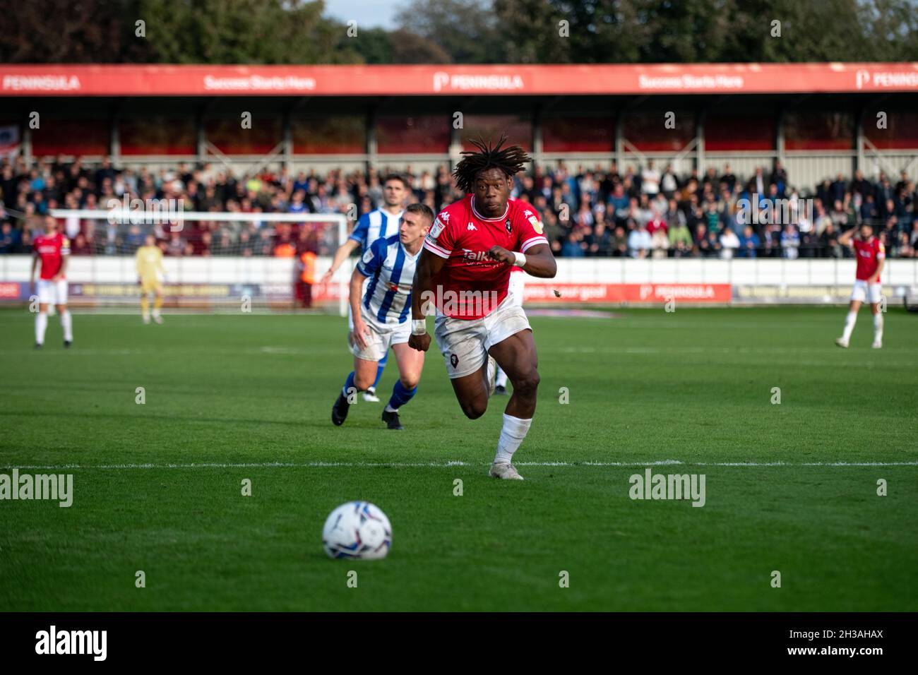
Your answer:
[[[445,166],[435,172],[401,172],[412,200],[434,211],[461,198]],[[174,199],[185,210],[239,213],[343,213],[356,219],[382,204],[385,171],[331,169],[263,172],[237,178],[214,164],[151,172],[19,157],[0,162],[0,253],[28,253],[33,230],[50,208],[108,210],[110,200]],[[918,196],[903,171],[893,184],[886,174],[869,180],[860,171],[839,174],[804,194],[789,183],[780,163],[737,177],[730,166],[699,175],[677,175],[670,165],[648,161],[638,170],[570,171],[564,163],[537,166],[514,178],[513,197],[542,216],[554,254],[663,257],[845,257],[838,235],[869,222],[890,257],[918,257]],[[178,201],[178,200],[181,200]],[[167,255],[289,255],[333,253],[337,231],[324,224],[186,221],[167,225],[64,219],[72,253],[131,254],[154,231]]]

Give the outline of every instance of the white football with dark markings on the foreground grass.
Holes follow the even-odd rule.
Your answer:
[[[369,501],[349,501],[332,511],[322,528],[322,546],[329,557],[378,560],[392,546],[392,525]]]

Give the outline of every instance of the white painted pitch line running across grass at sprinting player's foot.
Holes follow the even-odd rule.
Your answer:
[[[367,468],[450,468],[487,467],[479,462],[285,462],[259,463],[202,463],[202,464],[62,464],[62,465],[6,465],[5,469],[29,469],[61,471],[65,469],[166,469],[166,468],[320,468],[320,467],[367,467]],[[517,462],[518,467],[918,467],[914,462],[681,462],[677,459],[661,459],[652,462]]]

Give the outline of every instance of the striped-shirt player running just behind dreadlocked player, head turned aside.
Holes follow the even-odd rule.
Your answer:
[[[418,390],[424,366],[424,353],[408,346],[409,320],[414,266],[432,222],[430,208],[423,204],[410,205],[402,214],[398,234],[377,239],[353,271],[350,297],[353,330],[348,334],[353,371],[331,409],[331,422],[336,425],[347,418],[357,392],[373,386],[378,363],[392,347],[398,379],[382,419],[389,429],[403,428],[398,409]]]

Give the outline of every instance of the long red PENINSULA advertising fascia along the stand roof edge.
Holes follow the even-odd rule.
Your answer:
[[[598,96],[918,92],[918,62],[0,64],[0,96]]]

